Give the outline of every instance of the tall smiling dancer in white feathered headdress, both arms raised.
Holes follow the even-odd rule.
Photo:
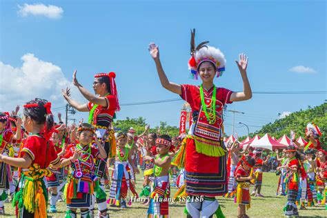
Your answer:
[[[155,61],[161,85],[180,95],[190,104],[192,125],[190,135],[186,136],[184,147],[175,155],[175,164],[185,166],[186,194],[204,195],[203,202],[187,201],[186,211],[190,217],[210,217],[222,215],[215,196],[227,192],[226,148],[221,139],[223,135],[223,108],[232,101],[244,101],[252,97],[250,83],[246,75],[247,59],[239,55],[237,66],[243,79],[244,92],[232,92],[226,88],[217,88],[213,80],[225,70],[226,59],[217,48],[200,43],[195,47],[195,30],[191,32],[191,58],[188,61],[192,77],[201,78],[201,86],[179,85],[170,82],[159,59],[159,48],[150,43],[150,55]],[[212,179],[216,178],[216,179]],[[201,214],[201,215],[200,215]]]

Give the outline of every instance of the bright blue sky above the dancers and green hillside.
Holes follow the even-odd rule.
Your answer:
[[[62,12],[58,17],[35,12],[24,15],[19,12],[24,3],[57,6]],[[96,72],[117,72],[120,103],[177,98],[161,88],[147,48],[151,41],[159,45],[170,81],[200,84],[189,79],[191,28],[197,30],[197,43],[208,40],[226,56],[226,72],[215,80],[217,86],[242,89],[235,59],[244,52],[249,57],[252,91],[326,91],[325,1],[1,1],[0,17],[1,80],[8,81],[1,84],[1,110],[12,110],[37,96],[51,96],[53,108],[64,106],[59,90],[70,86],[74,69],[88,89]],[[21,78],[36,77],[34,72],[44,78],[15,87],[15,79],[19,77],[19,84],[24,84],[26,79]],[[43,91],[41,86],[46,83],[51,86]],[[72,95],[84,102],[76,90]],[[254,132],[275,121],[278,113],[317,106],[324,99],[326,92],[254,94],[250,101],[232,103],[228,109],[244,112],[235,116],[235,131],[246,135],[239,121]],[[122,106],[117,117],[141,116],[152,126],[160,121],[178,126],[183,103]],[[88,115],[75,115],[81,117]],[[228,135],[231,124],[232,114],[227,112]]]

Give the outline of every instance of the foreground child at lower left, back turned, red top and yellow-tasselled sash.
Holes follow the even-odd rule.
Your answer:
[[[48,166],[59,166],[59,158],[49,140],[53,127],[51,103],[34,99],[23,106],[23,125],[30,135],[23,140],[19,157],[0,155],[0,161],[19,167],[21,177],[12,205],[17,217],[47,217],[48,192],[45,178]],[[18,125],[17,125],[18,127]]]

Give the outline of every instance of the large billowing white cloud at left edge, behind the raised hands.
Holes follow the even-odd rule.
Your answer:
[[[66,101],[61,95],[61,89],[73,87],[66,79],[59,66],[42,61],[34,54],[24,54],[21,57],[23,65],[14,68],[0,61],[0,111],[11,111],[18,105],[36,97],[52,102],[52,108],[64,106]],[[77,88],[72,88],[72,97],[80,103],[81,95]]]

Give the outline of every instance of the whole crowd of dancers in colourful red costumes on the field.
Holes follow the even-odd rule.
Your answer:
[[[173,198],[187,196],[187,217],[225,217],[217,196],[235,197],[238,217],[248,217],[250,197],[261,194],[262,168],[269,158],[261,159],[261,150],[239,143],[225,145],[223,108],[226,103],[252,97],[247,77],[248,58],[239,54],[237,67],[243,82],[242,92],[217,88],[214,78],[223,75],[224,54],[217,48],[195,45],[191,31],[188,66],[192,78],[201,78],[200,86],[179,85],[168,80],[159,59],[159,47],[150,43],[161,85],[190,104],[192,125],[188,135],[170,137],[130,128],[115,132],[112,120],[120,110],[115,72],[95,75],[95,95],[77,80],[72,83],[88,103],[72,99],[70,89],[63,98],[79,112],[88,112],[88,122],[66,126],[54,121],[51,103],[33,99],[11,113],[0,113],[0,214],[10,195],[17,217],[47,217],[57,212],[57,202],[66,202],[66,217],[109,217],[108,205],[126,208],[128,196],[143,197],[148,217],[168,217],[170,186],[179,188]],[[22,128],[23,124],[23,128]],[[281,166],[278,195],[287,195],[285,215],[298,215],[301,208],[326,201],[326,152],[318,140],[319,128],[308,129],[307,145],[289,146],[279,157]],[[138,132],[140,133],[140,132]],[[304,149],[300,156],[299,150]],[[137,193],[135,175],[143,170],[143,190]],[[112,173],[109,173],[112,172]],[[171,177],[171,179],[170,179]],[[250,193],[250,186],[254,190]],[[106,188],[109,195],[106,195]],[[321,199],[321,197],[323,199]],[[50,206],[48,206],[50,204]],[[95,212],[97,209],[97,212]]]

